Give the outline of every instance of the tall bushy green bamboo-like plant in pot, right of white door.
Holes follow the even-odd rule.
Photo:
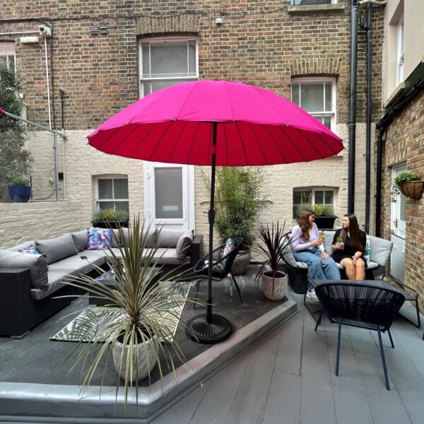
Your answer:
[[[210,189],[208,177],[204,177]],[[243,237],[243,245],[232,265],[234,275],[245,273],[252,254],[254,226],[268,196],[262,194],[263,175],[259,167],[217,167],[215,189],[215,228],[220,243]]]

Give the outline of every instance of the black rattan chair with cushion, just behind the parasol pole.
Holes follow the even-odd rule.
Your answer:
[[[242,237],[236,237],[232,240],[234,242],[234,250],[232,252],[225,254],[225,256],[221,256],[225,245],[222,245],[220,247],[217,247],[212,252],[212,257],[216,258],[213,259],[213,268],[212,268],[212,280],[213,281],[221,281],[223,278],[228,276],[230,274],[229,278],[232,280],[232,282],[235,285],[235,288],[237,290],[237,293],[239,295],[240,301],[243,302],[242,293],[240,292],[240,287],[237,284],[237,281],[235,281],[235,277],[231,274],[231,266],[234,262],[235,257],[237,256],[237,253],[240,251],[242,247],[243,238]],[[208,254],[200,259],[199,262],[197,262],[196,266],[194,266],[194,271],[197,273],[198,280],[196,282],[196,300],[197,296],[199,294],[199,285],[200,280],[202,278],[208,278]],[[193,309],[196,308],[196,302],[194,302]]]

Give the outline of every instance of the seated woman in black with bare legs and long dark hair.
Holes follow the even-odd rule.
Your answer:
[[[349,280],[365,280],[364,258],[367,235],[359,229],[353,213],[343,216],[342,228],[336,230],[333,239],[333,259],[346,269]]]

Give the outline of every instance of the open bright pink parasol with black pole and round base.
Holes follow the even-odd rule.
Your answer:
[[[305,110],[269,90],[228,81],[181,83],[147,95],[88,136],[112,155],[163,163],[211,165],[209,278],[206,315],[187,323],[187,335],[217,343],[231,324],[212,314],[215,167],[309,162],[336,155],[342,140]]]

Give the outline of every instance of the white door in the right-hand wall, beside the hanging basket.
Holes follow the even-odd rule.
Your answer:
[[[393,167],[391,178],[406,171],[406,165]],[[405,281],[405,233],[406,233],[406,197],[397,196],[396,202],[391,202],[390,227],[393,250],[390,257],[390,273],[401,282]]]

